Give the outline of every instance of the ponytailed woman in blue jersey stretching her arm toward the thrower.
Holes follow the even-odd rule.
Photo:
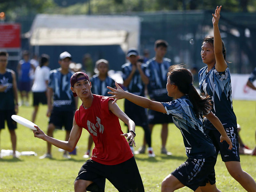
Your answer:
[[[147,98],[124,92],[116,84],[117,90],[108,87],[115,98],[128,99],[131,102],[155,111],[167,113],[172,116],[173,123],[180,129],[186,148],[188,159],[176,168],[162,182],[162,192],[170,192],[187,186],[192,190],[201,187],[201,191],[218,191],[215,185],[214,165],[216,163],[216,150],[211,139],[204,133],[202,115],[205,115],[220,131],[220,142],[226,140],[229,149],[232,148],[220,120],[211,110],[208,97],[201,98],[192,85],[192,74],[179,65],[169,68],[166,89],[168,96],[174,100],[167,103],[151,101]]]

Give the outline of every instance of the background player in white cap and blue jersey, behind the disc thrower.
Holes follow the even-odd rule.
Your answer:
[[[60,68],[50,71],[47,88],[48,111],[46,115],[50,117],[47,135],[53,137],[54,129],[61,129],[62,126],[64,126],[66,131],[66,141],[68,141],[72,129],[74,113],[77,108],[77,98],[75,99],[73,97],[73,93],[69,86],[70,77],[74,74],[69,70],[70,62],[71,55],[68,52],[60,54]],[[47,143],[46,154],[39,158],[52,158],[51,148],[51,143]],[[67,151],[64,151],[63,157],[70,158]]]

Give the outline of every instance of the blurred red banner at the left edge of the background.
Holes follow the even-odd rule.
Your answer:
[[[20,48],[19,24],[0,24],[0,48]]]

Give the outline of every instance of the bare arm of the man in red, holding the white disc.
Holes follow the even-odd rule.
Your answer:
[[[35,126],[37,131],[34,131],[34,137],[40,138],[42,140],[47,141],[48,143],[51,143],[52,145],[58,147],[58,148],[62,148],[64,150],[67,150],[69,152],[73,151],[76,147],[76,144],[78,142],[78,140],[80,139],[80,136],[82,134],[82,127],[79,127],[76,124],[76,120],[74,118],[73,120],[73,127],[72,130],[70,132],[70,136],[68,141],[62,141],[62,140],[58,140],[58,139],[54,139],[52,137],[49,137],[48,135],[45,135],[44,132],[37,126]]]

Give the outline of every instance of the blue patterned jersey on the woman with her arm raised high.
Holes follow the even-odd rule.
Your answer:
[[[236,127],[236,115],[232,106],[232,89],[229,68],[218,72],[215,66],[207,73],[207,66],[199,71],[199,88],[202,94],[212,99],[214,113],[224,127]],[[205,128],[215,129],[209,120],[205,119]]]

